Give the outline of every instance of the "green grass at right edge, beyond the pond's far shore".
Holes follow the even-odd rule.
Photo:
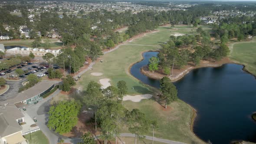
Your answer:
[[[249,72],[256,75],[256,42],[234,44],[230,58],[245,65]]]

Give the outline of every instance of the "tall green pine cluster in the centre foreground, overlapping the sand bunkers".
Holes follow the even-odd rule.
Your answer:
[[[127,89],[125,81],[119,81],[117,87],[109,86],[103,90],[97,82],[92,81],[87,86],[84,102],[87,106],[93,107],[95,130],[99,125],[101,138],[105,140],[105,144],[113,136],[117,141],[119,129],[124,125],[135,134],[135,144],[136,138],[143,137],[149,129],[151,121],[148,121],[141,111],[138,109],[128,111],[122,105],[121,101]]]

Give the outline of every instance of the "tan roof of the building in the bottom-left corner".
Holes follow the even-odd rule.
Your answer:
[[[11,103],[0,104],[0,137],[22,131],[16,119],[23,118],[22,112]]]

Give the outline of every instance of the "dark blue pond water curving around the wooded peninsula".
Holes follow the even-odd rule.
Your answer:
[[[145,84],[159,88],[159,81],[141,74],[140,68],[157,52],[145,52],[144,60],[131,68],[131,74]],[[175,82],[178,97],[197,110],[194,133],[213,144],[234,140],[256,142],[256,79],[243,72],[242,65],[192,70]]]

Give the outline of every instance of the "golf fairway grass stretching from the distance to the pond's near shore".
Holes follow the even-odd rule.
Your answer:
[[[81,80],[75,86],[79,89],[86,89],[90,81],[99,82],[100,79],[110,79],[112,85],[116,85],[118,81],[124,80],[128,85],[128,94],[153,94],[158,92],[157,89],[135,79],[129,74],[129,67],[132,63],[138,62],[142,59],[141,53],[144,51],[158,49],[159,43],[165,42],[170,36],[169,27],[160,27],[157,33],[150,33],[139,39],[135,39],[131,44],[144,44],[155,46],[135,46],[122,45],[119,49],[101,56],[99,60],[103,62],[96,62],[93,70],[89,70],[82,75]],[[107,61],[107,62],[105,62]],[[90,73],[101,72],[101,76],[93,76]],[[134,89],[133,89],[134,88]],[[202,143],[194,136],[190,130],[190,121],[192,116],[192,109],[183,101],[177,101],[169,105],[170,111],[164,111],[161,105],[152,99],[142,100],[141,102],[124,101],[124,105],[128,109],[138,108],[143,111],[150,120],[156,119],[159,123],[159,128],[156,130],[156,137],[165,138],[174,141],[181,141],[185,143]],[[128,132],[127,130],[122,130]],[[151,135],[151,131],[147,133]],[[132,139],[132,138],[131,138]]]

